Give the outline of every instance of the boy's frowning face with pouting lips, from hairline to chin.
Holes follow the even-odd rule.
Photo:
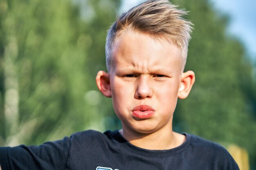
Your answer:
[[[170,132],[177,98],[184,90],[181,49],[146,34],[126,31],[114,44],[112,54],[110,73],[104,73],[108,93],[98,86],[104,95],[112,97],[123,130]]]

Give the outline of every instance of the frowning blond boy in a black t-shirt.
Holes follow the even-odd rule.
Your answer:
[[[96,82],[112,97],[121,130],[77,132],[40,146],[0,149],[3,170],[238,170],[212,142],[172,130],[177,98],[195,82],[183,73],[191,22],[167,0],[130,9],[108,31],[106,64]]]

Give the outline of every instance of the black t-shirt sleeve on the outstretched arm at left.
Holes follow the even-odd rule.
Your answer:
[[[65,170],[70,138],[39,146],[0,147],[2,170]]]

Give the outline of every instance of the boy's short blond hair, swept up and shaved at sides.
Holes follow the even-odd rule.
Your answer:
[[[126,29],[146,33],[153,38],[167,40],[182,49],[184,70],[191,38],[192,23],[183,18],[186,11],[177,9],[168,0],[147,0],[123,13],[108,30],[106,38],[106,65],[111,68],[112,48]]]

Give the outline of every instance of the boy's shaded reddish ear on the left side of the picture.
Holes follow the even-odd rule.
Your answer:
[[[99,91],[101,91],[104,96],[111,97],[110,79],[108,73],[105,71],[99,71],[96,76],[96,84]]]

